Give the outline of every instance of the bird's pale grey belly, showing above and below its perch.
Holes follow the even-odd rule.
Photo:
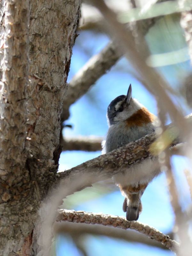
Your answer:
[[[111,126],[108,130],[107,140],[105,143],[105,153],[124,146],[129,142],[138,140],[153,131],[153,125],[130,127],[129,129],[127,129],[126,126],[123,126],[123,124],[121,124],[121,126]],[[139,183],[147,184],[157,176],[158,173],[158,161],[154,159],[146,159],[143,160],[141,164],[135,164],[134,166],[126,169],[123,175],[115,175],[114,180],[116,183],[120,183],[121,185],[123,185],[123,183],[125,183],[125,185],[137,185]]]

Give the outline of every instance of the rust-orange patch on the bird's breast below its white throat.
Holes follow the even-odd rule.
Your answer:
[[[143,124],[153,122],[154,117],[155,116],[151,114],[147,108],[140,108],[135,114],[126,120],[126,123],[129,126],[142,126]]]

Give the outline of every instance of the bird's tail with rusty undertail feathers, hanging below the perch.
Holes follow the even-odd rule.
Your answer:
[[[146,187],[146,184],[139,184],[137,187],[124,186],[120,188],[126,195],[123,203],[123,211],[126,212],[127,220],[138,220],[142,211],[141,196]]]

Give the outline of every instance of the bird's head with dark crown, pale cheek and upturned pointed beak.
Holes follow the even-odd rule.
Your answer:
[[[126,96],[120,95],[109,104],[107,109],[108,125],[127,120],[142,107],[143,105],[132,98],[132,87],[130,84]]]

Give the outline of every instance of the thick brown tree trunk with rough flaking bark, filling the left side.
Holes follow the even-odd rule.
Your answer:
[[[1,1],[0,255],[38,251],[33,229],[56,179],[79,6],[80,0]]]

